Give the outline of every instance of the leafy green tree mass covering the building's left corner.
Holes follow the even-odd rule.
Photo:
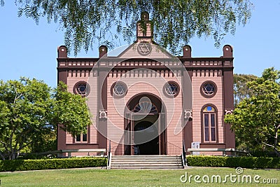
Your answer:
[[[36,79],[0,81],[0,156],[18,158],[20,151],[53,134],[57,126],[73,136],[90,125],[85,98]]]

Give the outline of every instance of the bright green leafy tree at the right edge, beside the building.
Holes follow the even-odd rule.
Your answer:
[[[232,124],[232,130],[248,150],[261,148],[273,150],[280,156],[280,71],[265,69],[260,78],[249,82],[253,94],[243,99],[232,114],[225,116],[225,123]]]

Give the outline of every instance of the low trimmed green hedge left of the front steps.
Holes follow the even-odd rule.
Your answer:
[[[60,158],[42,160],[0,160],[0,172],[40,169],[67,169],[78,167],[104,167],[106,158]]]

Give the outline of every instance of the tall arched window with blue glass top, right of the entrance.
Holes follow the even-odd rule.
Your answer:
[[[217,111],[216,108],[207,104],[202,109],[202,127],[203,127],[203,141],[216,142],[217,141],[217,127],[216,127]]]

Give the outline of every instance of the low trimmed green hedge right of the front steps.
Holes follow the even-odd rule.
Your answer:
[[[187,163],[189,166],[199,167],[244,167],[259,169],[280,169],[280,158],[188,156]]]

